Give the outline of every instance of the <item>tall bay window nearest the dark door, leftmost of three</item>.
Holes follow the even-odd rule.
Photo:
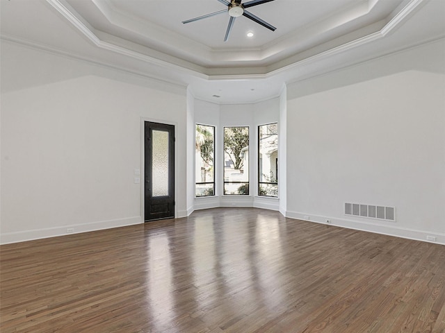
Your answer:
[[[215,195],[215,127],[196,124],[195,196]]]

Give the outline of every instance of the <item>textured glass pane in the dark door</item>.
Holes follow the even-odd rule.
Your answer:
[[[152,196],[168,196],[168,142],[164,130],[152,132]]]

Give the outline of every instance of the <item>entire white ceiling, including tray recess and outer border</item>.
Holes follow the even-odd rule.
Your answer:
[[[181,23],[226,8],[218,0],[1,0],[1,35],[189,85],[214,103],[267,99],[283,83],[445,35],[445,0],[275,0],[248,11],[276,31],[241,16],[227,42],[227,12]]]

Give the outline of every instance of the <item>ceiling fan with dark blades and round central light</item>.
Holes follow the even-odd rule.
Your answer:
[[[225,32],[225,37],[224,37],[224,41],[227,41],[227,38],[229,37],[229,33],[232,30],[232,26],[234,25],[235,19],[236,17],[240,17],[241,15],[247,17],[248,19],[251,19],[254,22],[257,22],[257,24],[261,24],[261,26],[264,26],[268,29],[270,29],[271,31],[275,31],[275,26],[268,24],[266,21],[260,19],[259,17],[253,15],[251,12],[248,12],[247,10],[245,10],[245,8],[250,8],[253,6],[257,6],[257,5],[261,5],[262,3],[266,3],[266,2],[270,2],[270,1],[274,1],[274,0],[252,0],[252,1],[248,1],[245,3],[241,3],[242,0],[216,0],[219,1],[220,3],[225,4],[225,6],[227,6],[227,9],[223,9],[223,10],[219,10],[218,12],[211,12],[210,14],[207,15],[202,15],[200,17],[195,17],[194,19],[187,19],[186,21],[183,21],[182,23],[186,24],[186,23],[190,23],[190,22],[195,22],[198,21],[200,19],[207,19],[207,17],[212,17],[215,15],[219,15],[219,14],[223,14],[223,12],[229,12],[229,25],[227,26],[227,31]]]

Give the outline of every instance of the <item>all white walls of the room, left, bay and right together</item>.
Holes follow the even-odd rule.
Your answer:
[[[290,217],[445,244],[444,50],[444,41],[432,42],[288,85],[277,99],[216,105],[185,87],[2,42],[0,241],[141,223],[133,171],[143,168],[141,124],[149,119],[176,124],[177,216],[279,207]],[[222,196],[218,170],[218,197],[193,197],[194,123],[217,127],[217,147],[224,126],[250,126],[256,161],[257,126],[273,121],[279,202]],[[251,162],[252,187],[256,177]],[[395,206],[396,222],[351,219],[345,202]]]

